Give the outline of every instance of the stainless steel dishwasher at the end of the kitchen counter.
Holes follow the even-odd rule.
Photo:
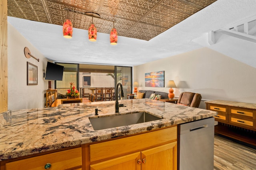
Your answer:
[[[178,169],[214,169],[214,117],[178,125]]]

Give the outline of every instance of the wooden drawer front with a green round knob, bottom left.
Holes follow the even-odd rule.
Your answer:
[[[68,149],[32,158],[17,160],[6,163],[6,170],[44,170],[45,165],[50,163],[50,170],[65,170],[82,166],[82,149]]]

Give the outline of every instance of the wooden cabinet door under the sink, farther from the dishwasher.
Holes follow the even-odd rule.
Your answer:
[[[90,170],[141,170],[140,152],[106,160],[98,164],[92,164]]]

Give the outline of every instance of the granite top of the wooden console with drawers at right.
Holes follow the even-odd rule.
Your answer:
[[[226,100],[211,100],[211,101],[206,101],[205,103],[256,109],[256,104],[254,103],[232,102],[232,101],[226,101]]]

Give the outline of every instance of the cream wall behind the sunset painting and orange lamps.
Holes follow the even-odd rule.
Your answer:
[[[246,55],[246,53],[245,53]],[[165,85],[174,80],[175,97],[181,92],[196,92],[204,100],[230,100],[256,103],[256,68],[208,48],[175,55],[166,59],[134,66],[138,90],[167,92],[169,88],[145,87],[145,73],[165,71]]]

